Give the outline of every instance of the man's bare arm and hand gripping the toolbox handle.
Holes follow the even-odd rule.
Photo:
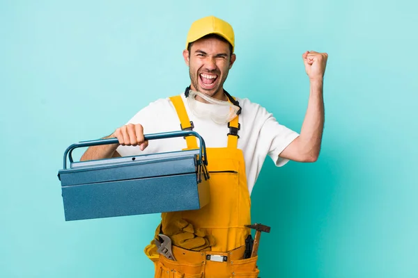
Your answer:
[[[102,145],[89,147],[80,158],[80,161],[90,161],[103,158],[120,157],[116,152],[119,145],[123,146],[139,146],[141,151],[148,146],[148,141],[144,140],[144,128],[141,124],[127,124],[116,129],[111,136],[106,138],[118,138],[119,144]]]

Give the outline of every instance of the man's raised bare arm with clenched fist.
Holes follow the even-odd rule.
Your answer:
[[[307,113],[300,136],[293,140],[279,156],[292,161],[315,162],[319,156],[325,122],[323,75],[328,55],[307,51],[302,58],[310,81]]]

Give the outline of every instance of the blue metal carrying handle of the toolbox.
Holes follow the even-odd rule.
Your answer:
[[[200,152],[199,152],[199,165],[205,164],[208,165],[208,159],[206,157],[206,145],[205,141],[199,133],[196,131],[170,131],[164,133],[153,133],[153,134],[146,134],[144,135],[145,140],[155,140],[155,139],[166,139],[166,138],[175,138],[175,137],[184,137],[184,136],[195,136],[200,141]],[[118,144],[118,138],[107,138],[107,139],[99,139],[99,140],[89,140],[89,141],[82,141],[78,143],[74,143],[70,145],[64,152],[64,160],[63,160],[63,169],[67,169],[67,156],[70,163],[73,162],[72,160],[72,151],[79,147],[93,147],[93,146],[100,146],[100,145],[112,145]],[[203,156],[202,156],[203,154]],[[203,158],[203,159],[202,159]]]

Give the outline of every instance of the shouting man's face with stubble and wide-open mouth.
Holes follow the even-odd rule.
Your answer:
[[[189,66],[192,90],[224,100],[224,82],[235,62],[229,44],[217,38],[196,40],[190,52],[183,51],[183,57]]]

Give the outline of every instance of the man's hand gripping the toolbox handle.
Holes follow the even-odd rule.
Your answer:
[[[148,140],[144,139],[144,128],[141,124],[127,124],[121,126],[109,137],[116,137],[123,146],[139,146],[141,151],[148,146]]]

